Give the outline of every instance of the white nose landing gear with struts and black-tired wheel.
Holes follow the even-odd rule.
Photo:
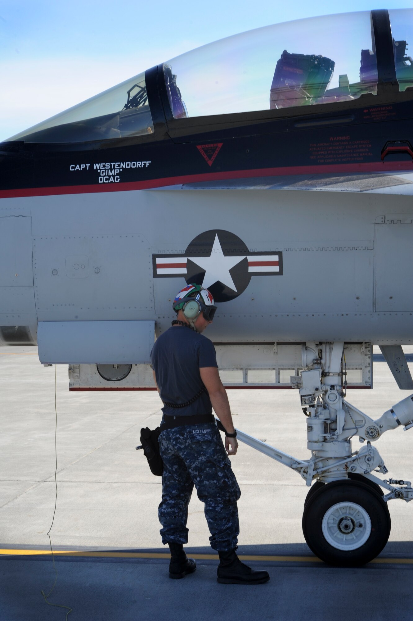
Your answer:
[[[300,391],[311,458],[296,459],[240,430],[237,437],[306,481],[303,533],[314,554],[332,565],[362,565],[380,554],[388,541],[388,501],[413,500],[409,481],[376,476],[388,469],[372,444],[399,425],[413,428],[413,395],[373,420],[345,400],[344,343],[310,343],[302,354],[303,370],[291,376],[291,386]],[[363,443],[356,451],[353,437]],[[318,480],[312,485],[313,479]],[[382,487],[389,491],[386,496]]]

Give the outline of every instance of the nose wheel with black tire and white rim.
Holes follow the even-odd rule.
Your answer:
[[[333,481],[304,505],[303,534],[325,563],[357,567],[386,545],[391,529],[387,504],[358,481]]]

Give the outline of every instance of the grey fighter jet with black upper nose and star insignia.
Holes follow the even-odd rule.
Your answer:
[[[413,389],[412,40],[411,9],[252,30],[0,145],[0,343],[73,391],[154,389],[175,292],[208,288],[223,383],[300,392],[311,458],[238,437],[316,479],[303,531],[329,563],[374,558],[413,498],[372,444],[412,397],[378,420],[345,399],[373,344]]]

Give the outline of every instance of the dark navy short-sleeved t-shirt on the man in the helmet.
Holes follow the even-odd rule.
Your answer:
[[[175,404],[190,401],[200,391],[200,368],[218,367],[209,338],[183,325],[174,325],[161,334],[151,351],[151,362],[162,401]],[[164,406],[162,412],[174,416],[211,414],[212,405],[205,390],[190,406]]]

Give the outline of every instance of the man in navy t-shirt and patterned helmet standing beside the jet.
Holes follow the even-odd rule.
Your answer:
[[[159,522],[162,543],[171,550],[170,578],[184,578],[196,569],[187,558],[188,505],[193,486],[205,504],[210,542],[218,551],[218,582],[261,584],[266,571],[254,571],[236,555],[239,534],[237,501],[241,496],[228,455],[238,442],[226,391],[216,364],[215,348],[202,336],[216,306],[208,289],[190,284],[173,302],[177,319],[151,351],[154,379],[164,407],[159,450],[164,463]],[[225,448],[212,408],[226,430]]]

